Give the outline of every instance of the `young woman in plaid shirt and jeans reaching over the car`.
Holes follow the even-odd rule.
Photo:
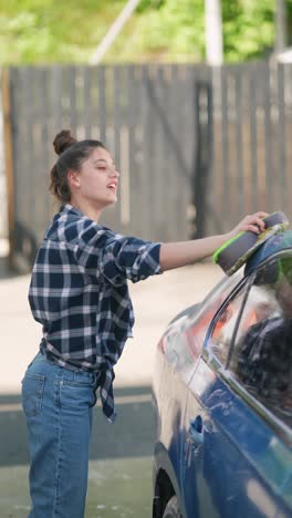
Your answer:
[[[29,290],[43,327],[40,352],[22,381],[31,456],[30,518],[82,518],[92,408],[100,388],[114,419],[114,365],[134,323],[127,280],[137,282],[210,256],[241,230],[260,232],[265,213],[227,235],[158,244],[98,225],[117,198],[119,173],[98,141],[56,135],[51,191],[61,204],[36,255]]]

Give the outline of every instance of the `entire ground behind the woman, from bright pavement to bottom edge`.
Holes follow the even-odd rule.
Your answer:
[[[133,340],[116,367],[118,418],[114,425],[95,410],[85,518],[149,518],[155,433],[152,373],[165,327],[198,302],[222,277],[210,262],[174,270],[131,286],[136,313]],[[14,277],[0,257],[0,517],[29,511],[28,447],[20,407],[20,382],[38,351],[41,327],[27,300],[29,276]],[[114,488],[114,491],[113,491]]]

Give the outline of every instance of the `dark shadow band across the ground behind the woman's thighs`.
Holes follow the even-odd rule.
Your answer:
[[[91,459],[153,454],[155,412],[149,386],[116,388],[117,418],[94,411]],[[142,401],[139,401],[142,400]],[[145,401],[146,400],[146,401]],[[27,428],[19,395],[0,395],[0,467],[28,464]]]

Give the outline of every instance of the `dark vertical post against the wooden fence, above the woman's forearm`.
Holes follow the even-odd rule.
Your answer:
[[[195,236],[206,234],[206,213],[208,205],[209,174],[212,162],[212,86],[206,81],[195,85],[195,135],[197,135],[194,205],[196,208]]]

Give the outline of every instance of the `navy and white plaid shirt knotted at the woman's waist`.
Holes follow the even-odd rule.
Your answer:
[[[124,237],[63,206],[36,255],[29,289],[43,327],[40,349],[72,370],[100,373],[103,412],[114,419],[113,366],[132,336],[127,279],[160,273],[160,244]]]

